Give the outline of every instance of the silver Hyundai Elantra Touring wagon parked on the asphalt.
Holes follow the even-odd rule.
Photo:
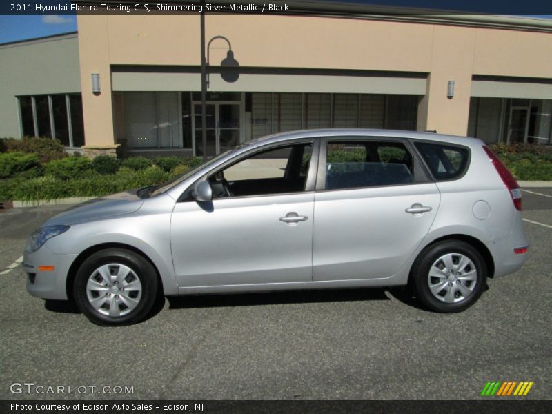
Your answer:
[[[158,295],[365,286],[408,286],[453,313],[524,263],[520,210],[478,139],[289,132],[53,217],[23,268],[31,295],[101,325],[139,322]]]

